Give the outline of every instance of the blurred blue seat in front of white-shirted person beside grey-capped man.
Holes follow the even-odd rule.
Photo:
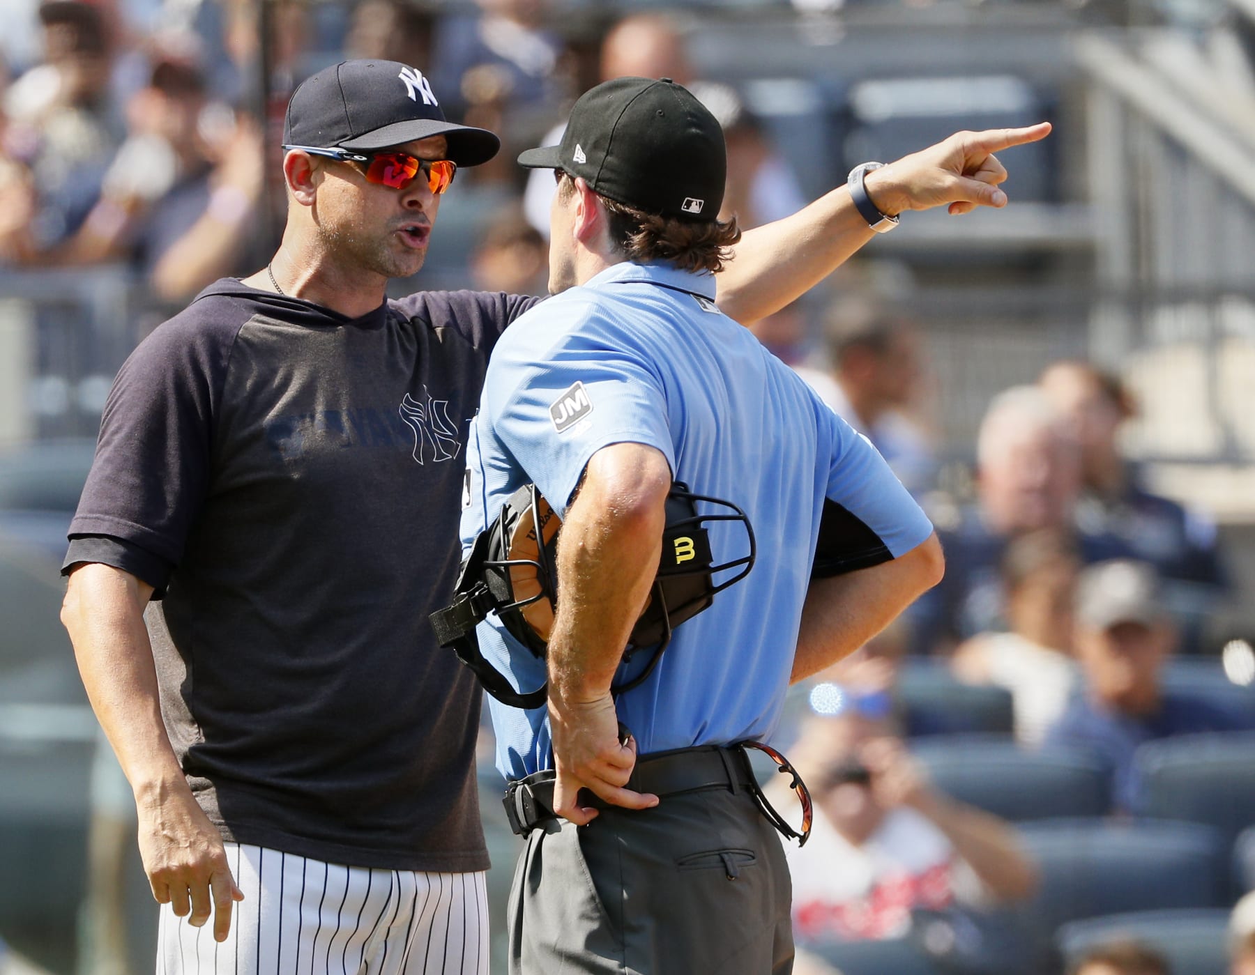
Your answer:
[[[945,794],[1004,819],[1103,816],[1111,807],[1107,770],[1091,753],[1029,752],[994,735],[934,735],[912,743]]]

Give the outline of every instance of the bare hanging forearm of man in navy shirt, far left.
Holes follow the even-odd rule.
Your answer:
[[[61,607],[88,699],[141,803],[186,788],[162,723],[143,621],[151,595],[133,576],[92,563],[73,572]]]

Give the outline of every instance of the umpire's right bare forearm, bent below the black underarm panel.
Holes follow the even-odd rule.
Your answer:
[[[793,658],[796,684],[852,654],[941,581],[936,535],[892,562],[811,583]]]

